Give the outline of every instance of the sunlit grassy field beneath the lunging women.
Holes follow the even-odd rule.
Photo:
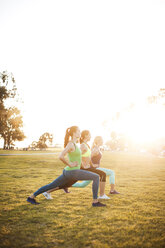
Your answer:
[[[105,152],[102,167],[115,170],[121,192],[107,207],[91,207],[91,184],[30,205],[27,196],[62,173],[58,154],[0,157],[0,247],[165,247],[165,159]]]

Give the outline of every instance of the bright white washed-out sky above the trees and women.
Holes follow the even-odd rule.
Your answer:
[[[12,72],[28,137],[62,143],[165,88],[165,0],[0,0],[0,71]]]

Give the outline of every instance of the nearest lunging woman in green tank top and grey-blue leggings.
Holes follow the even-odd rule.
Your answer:
[[[51,189],[59,189],[64,185],[70,183],[70,181],[77,180],[92,180],[92,191],[93,191],[93,207],[104,207],[105,204],[102,204],[98,201],[98,187],[99,187],[99,176],[95,173],[80,170],[81,166],[81,150],[77,146],[77,141],[80,139],[80,129],[77,126],[72,126],[66,130],[65,139],[64,139],[64,150],[61,152],[59,159],[66,165],[63,170],[63,174],[55,179],[52,183],[47,184],[35,193],[27,198],[27,201],[31,204],[39,204],[36,202],[35,198],[43,192],[47,192]],[[68,160],[66,159],[68,156]]]

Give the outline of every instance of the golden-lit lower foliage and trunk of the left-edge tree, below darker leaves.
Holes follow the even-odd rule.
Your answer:
[[[14,141],[24,140],[25,135],[21,130],[23,127],[22,116],[17,108],[5,109],[0,122],[0,135],[4,139],[4,149],[10,149],[14,145]]]

